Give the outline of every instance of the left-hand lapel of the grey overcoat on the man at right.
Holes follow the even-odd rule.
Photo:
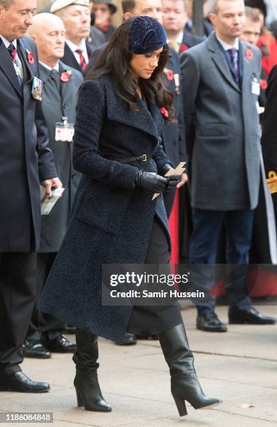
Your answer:
[[[218,46],[215,33],[212,33],[211,36],[207,38],[206,43],[209,51],[211,52],[211,58],[216,64],[216,67],[220,71],[224,80],[226,80],[226,82],[229,83],[233,89],[240,92],[241,90],[239,89],[239,86],[237,85],[237,83],[234,81],[234,77],[232,76],[231,70],[227,64],[225,56],[223,52],[221,52],[220,47]]]

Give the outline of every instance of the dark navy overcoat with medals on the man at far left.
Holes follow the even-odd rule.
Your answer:
[[[24,37],[17,49],[27,71],[22,87],[0,38],[0,252],[38,248],[39,184],[57,177],[41,103],[31,94],[33,77],[38,76],[36,45]]]

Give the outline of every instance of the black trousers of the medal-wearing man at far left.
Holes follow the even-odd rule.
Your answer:
[[[0,253],[0,377],[20,369],[36,301],[37,254]]]

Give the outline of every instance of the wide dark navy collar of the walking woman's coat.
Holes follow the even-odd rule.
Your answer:
[[[137,106],[140,111],[130,111],[127,103],[114,92],[109,77],[105,77],[105,86],[107,88],[107,117],[110,120],[120,121],[133,128],[138,128],[153,135],[158,140],[163,126],[163,114],[160,109],[156,105],[149,105],[148,109],[147,105],[139,98]]]

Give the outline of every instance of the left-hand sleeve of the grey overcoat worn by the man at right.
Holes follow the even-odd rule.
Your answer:
[[[181,55],[181,92],[184,107],[184,126],[186,128],[186,149],[188,158],[193,152],[195,137],[195,100],[200,85],[200,69],[195,58],[184,52]]]

